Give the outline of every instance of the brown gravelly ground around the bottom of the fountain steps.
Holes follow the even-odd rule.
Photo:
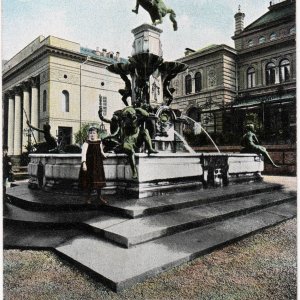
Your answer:
[[[293,177],[266,177],[295,190]],[[296,219],[116,294],[50,251],[4,250],[4,299],[296,299]]]

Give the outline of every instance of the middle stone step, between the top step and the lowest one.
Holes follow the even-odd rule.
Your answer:
[[[96,217],[85,223],[108,240],[129,248],[163,236],[292,200],[295,200],[295,196],[273,191],[121,221],[109,227],[102,217]]]

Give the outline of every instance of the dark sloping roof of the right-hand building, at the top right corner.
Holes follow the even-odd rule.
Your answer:
[[[248,25],[243,32],[264,27],[273,22],[281,20],[293,20],[296,17],[296,1],[286,0],[269,7],[269,11],[258,18],[256,21]]]

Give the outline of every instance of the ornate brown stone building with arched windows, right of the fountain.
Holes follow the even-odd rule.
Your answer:
[[[295,2],[270,2],[247,27],[239,8],[234,48],[187,48],[178,61],[189,68],[173,80],[173,106],[215,135],[230,133],[238,141],[245,124],[254,122],[263,143],[295,143]]]

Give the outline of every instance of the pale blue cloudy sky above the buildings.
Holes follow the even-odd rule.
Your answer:
[[[91,49],[131,55],[131,30],[151,23],[136,0],[2,0],[2,59],[10,59],[39,35],[53,35]],[[234,14],[241,6],[245,26],[268,11],[269,0],[165,0],[177,17],[173,31],[168,17],[158,27],[165,60],[184,56],[185,48],[211,44],[234,46]]]

